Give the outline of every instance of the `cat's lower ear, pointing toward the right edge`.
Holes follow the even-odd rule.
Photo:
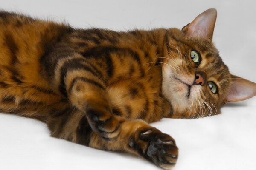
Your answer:
[[[256,95],[256,83],[238,76],[231,76],[231,87],[225,102],[238,102]]]

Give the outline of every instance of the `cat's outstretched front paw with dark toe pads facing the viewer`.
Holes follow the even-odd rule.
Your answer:
[[[174,139],[155,128],[141,130],[137,136],[130,139],[129,146],[163,169],[170,169],[177,162],[178,148]]]

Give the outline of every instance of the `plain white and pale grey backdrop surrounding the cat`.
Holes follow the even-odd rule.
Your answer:
[[[256,4],[253,0],[0,0],[0,8],[72,26],[113,30],[182,28],[207,8],[218,17],[214,42],[230,71],[256,82]],[[256,97],[228,104],[219,116],[163,119],[153,125],[175,138],[174,170],[255,170]],[[49,137],[44,123],[0,114],[1,170],[157,170],[134,156]]]

